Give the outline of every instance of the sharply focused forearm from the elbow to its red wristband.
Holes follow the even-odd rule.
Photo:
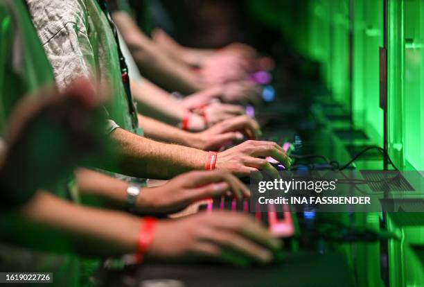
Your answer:
[[[121,128],[114,130],[110,138],[116,146],[116,172],[134,177],[169,179],[187,171],[203,169],[207,157],[202,150],[160,143]]]

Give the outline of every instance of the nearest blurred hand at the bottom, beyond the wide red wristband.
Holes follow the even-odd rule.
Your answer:
[[[213,260],[236,266],[270,263],[281,243],[250,216],[215,211],[157,223],[148,258]]]

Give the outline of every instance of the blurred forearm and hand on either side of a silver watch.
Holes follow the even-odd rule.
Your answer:
[[[100,200],[108,207],[123,209],[127,204],[129,184],[80,168],[76,171],[78,190],[82,199]],[[197,200],[234,195],[249,197],[249,190],[229,173],[223,171],[191,171],[174,177],[166,184],[143,188],[134,202],[134,210],[142,214],[170,214],[180,211]]]

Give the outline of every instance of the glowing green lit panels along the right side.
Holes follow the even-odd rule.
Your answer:
[[[366,144],[383,144],[379,48],[385,0],[250,1],[252,12],[279,28],[301,55],[319,63],[330,101],[351,111],[351,128]],[[405,170],[424,170],[424,0],[387,0],[389,155]],[[330,122],[330,125],[335,123]],[[340,215],[339,219],[343,216]],[[343,220],[343,219],[342,219]],[[383,214],[354,214],[353,223],[379,230]],[[424,286],[423,214],[385,214],[401,241],[342,245],[358,286]],[[388,274],[382,275],[382,249]]]

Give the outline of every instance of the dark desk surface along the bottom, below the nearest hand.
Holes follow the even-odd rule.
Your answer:
[[[105,272],[100,278],[104,286],[143,286],[153,279],[177,280],[179,287],[355,286],[353,272],[340,254],[320,255],[307,251],[288,254],[277,266],[233,268],[211,264],[150,263],[132,271]]]

